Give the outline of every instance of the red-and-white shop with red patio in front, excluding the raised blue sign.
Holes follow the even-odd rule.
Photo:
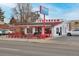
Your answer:
[[[43,20],[36,20],[36,22],[30,25],[12,25],[10,29],[14,29],[14,31],[19,34],[21,33],[26,38],[54,38],[60,35],[62,36],[65,33],[63,23],[62,19],[47,19],[45,20],[45,24]]]

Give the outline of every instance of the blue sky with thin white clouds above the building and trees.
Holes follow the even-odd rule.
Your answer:
[[[42,5],[49,9],[49,15],[46,19],[64,19],[75,20],[79,19],[79,4],[77,3],[32,3],[32,11],[38,11],[39,6]],[[0,7],[5,11],[5,22],[8,22],[12,16],[12,8],[15,4],[0,4]],[[41,18],[43,15],[41,14]]]

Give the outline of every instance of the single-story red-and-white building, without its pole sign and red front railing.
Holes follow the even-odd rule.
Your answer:
[[[43,20],[36,20],[32,24],[9,25],[7,28],[16,32],[22,32],[25,35],[35,34],[36,32],[43,34],[45,32],[49,37],[54,38],[65,35],[67,27],[62,19],[47,19],[45,23],[43,23]]]

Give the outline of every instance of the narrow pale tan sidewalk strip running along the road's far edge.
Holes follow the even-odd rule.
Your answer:
[[[72,46],[79,46],[79,42],[72,42],[72,41],[64,41],[64,40],[55,40],[55,39],[21,39],[21,38],[1,38],[0,40],[10,40],[10,41],[26,41],[32,43],[45,43],[45,44],[64,44],[64,45],[72,45]]]

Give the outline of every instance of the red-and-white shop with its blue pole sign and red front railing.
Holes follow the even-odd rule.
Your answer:
[[[11,37],[26,38],[47,38],[62,36],[66,32],[66,27],[62,19],[45,19],[48,15],[48,8],[40,6],[40,13],[44,15],[43,19],[37,19],[31,24],[9,25],[9,29],[13,31]],[[16,23],[13,19],[14,24]]]

